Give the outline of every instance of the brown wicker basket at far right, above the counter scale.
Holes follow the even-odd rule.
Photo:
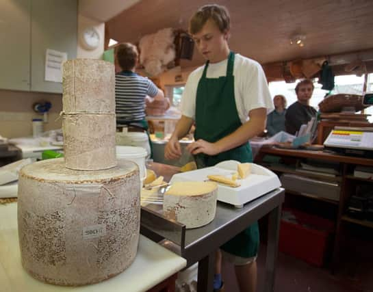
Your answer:
[[[357,94],[334,94],[326,97],[319,103],[322,113],[331,113],[342,111],[344,107],[354,107],[355,111],[361,111],[363,105],[363,96]]]

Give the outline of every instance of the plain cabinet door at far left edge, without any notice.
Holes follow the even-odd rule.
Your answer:
[[[0,1],[0,88],[29,90],[30,0]]]

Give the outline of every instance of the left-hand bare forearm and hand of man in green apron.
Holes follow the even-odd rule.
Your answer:
[[[182,153],[179,140],[188,134],[193,122],[194,120],[192,118],[181,116],[176,124],[174,133],[172,133],[170,140],[166,144],[166,148],[164,148],[164,157],[166,159],[176,159],[181,157]]]

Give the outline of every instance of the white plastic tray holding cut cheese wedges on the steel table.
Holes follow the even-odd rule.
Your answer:
[[[222,161],[210,168],[201,168],[190,172],[174,174],[170,183],[175,181],[207,181],[207,175],[220,174],[231,178],[237,172],[235,160]],[[237,179],[240,187],[229,187],[218,183],[218,200],[233,204],[235,207],[243,207],[244,204],[281,187],[279,177],[274,172],[255,163],[251,164],[251,174],[244,179]]]

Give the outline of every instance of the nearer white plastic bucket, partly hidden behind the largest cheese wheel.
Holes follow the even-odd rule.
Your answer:
[[[147,153],[142,147],[136,146],[116,146],[116,158],[133,161],[140,168],[141,185],[146,178],[145,157]]]

